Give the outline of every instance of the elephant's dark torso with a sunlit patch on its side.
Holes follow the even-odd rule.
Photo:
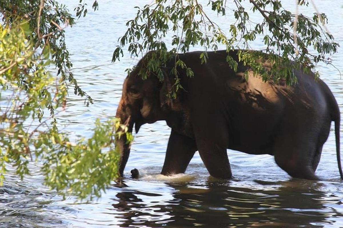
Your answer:
[[[192,79],[181,75],[186,79],[187,96],[193,100],[190,104],[195,104],[191,112],[198,116],[206,112],[215,117],[214,121],[225,123],[228,148],[273,154],[274,139],[280,132],[292,135],[306,129],[310,135],[330,124],[327,94],[331,92],[323,86],[325,83],[316,82],[312,73],[295,71],[298,83],[291,86],[284,80],[263,82],[249,71],[246,80],[244,72],[249,68],[238,62],[235,72],[227,64],[226,55],[226,51],[209,52],[206,64],[201,64],[200,52],[180,58],[194,72]],[[235,52],[230,55],[238,61]]]

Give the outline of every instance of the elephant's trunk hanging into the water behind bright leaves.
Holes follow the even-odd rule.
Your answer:
[[[120,123],[126,124],[128,126],[128,132],[132,133],[133,120],[128,114],[129,113],[126,113],[126,108],[123,108],[122,102],[120,102],[117,109],[116,117],[120,118]],[[120,152],[119,175],[122,177],[126,163],[129,159],[131,149],[131,144],[127,143],[126,134],[121,135],[120,139],[117,139],[116,147]]]

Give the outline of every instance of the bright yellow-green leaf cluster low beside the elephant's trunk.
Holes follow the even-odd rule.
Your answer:
[[[97,119],[94,135],[76,143],[54,131],[40,134],[34,145],[36,156],[44,161],[45,184],[57,191],[67,189],[67,193],[81,199],[100,197],[101,190],[105,191],[118,178],[119,153],[115,142],[123,133],[130,143],[133,138],[127,126],[114,118],[103,123]]]

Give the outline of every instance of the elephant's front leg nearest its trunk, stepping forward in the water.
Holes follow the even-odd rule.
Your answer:
[[[194,139],[171,130],[161,174],[184,173],[196,151],[197,146]]]

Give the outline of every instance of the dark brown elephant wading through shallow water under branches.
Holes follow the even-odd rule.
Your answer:
[[[116,117],[133,125],[138,133],[142,124],[165,120],[171,128],[163,175],[184,173],[196,151],[209,174],[232,178],[227,149],[252,155],[273,155],[277,165],[294,178],[319,180],[315,175],[322,146],[331,121],[335,124],[336,155],[340,176],[340,110],[329,87],[313,72],[294,69],[297,83],[284,79],[264,82],[253,76],[251,68],[239,61],[238,50],[207,52],[206,64],[201,52],[178,54],[191,68],[178,68],[183,89],[175,99],[168,98],[175,83],[170,70],[175,57],[163,66],[164,80],[151,73],[143,80],[138,74],[143,57],[123,83]],[[149,55],[149,52],[146,54]],[[238,63],[233,70],[227,55]],[[244,72],[248,71],[248,79]],[[126,138],[117,141],[120,151],[119,174],[123,176],[130,154]]]

